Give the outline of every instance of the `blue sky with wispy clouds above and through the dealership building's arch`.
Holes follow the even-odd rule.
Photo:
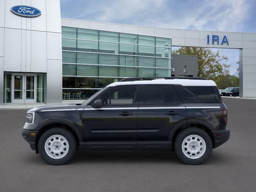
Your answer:
[[[60,0],[63,18],[207,31],[256,32],[255,8],[255,0]],[[221,51],[238,76],[239,50]]]

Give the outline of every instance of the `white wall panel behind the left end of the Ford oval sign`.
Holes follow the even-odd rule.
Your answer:
[[[3,1],[3,0],[2,0]],[[10,9],[15,5],[20,5],[21,0],[6,0],[5,1],[5,27],[6,28],[21,28],[21,17],[13,14]]]

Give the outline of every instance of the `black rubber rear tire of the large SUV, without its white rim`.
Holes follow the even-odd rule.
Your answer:
[[[182,152],[182,142],[189,135],[199,135],[205,141],[206,150],[204,152],[204,155],[199,157],[198,159],[190,159],[187,156],[185,156]],[[192,164],[192,165],[202,164],[210,157],[212,153],[212,139],[208,135],[208,133],[202,129],[195,128],[195,127],[186,128],[177,135],[174,141],[174,149],[175,149],[176,155],[179,157],[179,159],[183,163]]]

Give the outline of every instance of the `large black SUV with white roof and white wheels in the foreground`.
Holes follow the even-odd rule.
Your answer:
[[[211,80],[124,79],[82,104],[28,110],[22,136],[52,165],[67,163],[77,148],[174,150],[182,162],[201,164],[229,139],[226,126]]]

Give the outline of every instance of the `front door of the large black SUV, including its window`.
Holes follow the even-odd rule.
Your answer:
[[[138,86],[113,87],[96,98],[102,100],[102,108],[84,108],[85,140],[116,141],[117,147],[136,148],[137,92]],[[90,146],[89,143],[86,145]]]

